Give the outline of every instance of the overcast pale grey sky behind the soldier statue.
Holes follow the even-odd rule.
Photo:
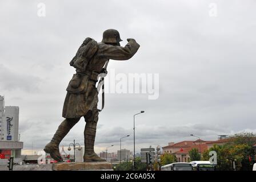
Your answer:
[[[46,16],[38,16],[38,3]],[[69,62],[86,37],[101,42],[117,29],[141,45],[128,61],[110,60],[115,73],[159,74],[159,98],[107,93],[99,114],[96,152],[114,144],[133,151],[168,142],[216,140],[219,134],[256,131],[256,2],[1,1],[0,94],[19,106],[24,149],[41,150],[62,122]],[[115,80],[108,80],[114,82]],[[109,86],[106,82],[106,87]],[[83,119],[61,145],[83,143]]]

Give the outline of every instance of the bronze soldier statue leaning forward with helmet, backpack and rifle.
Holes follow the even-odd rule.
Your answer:
[[[59,143],[81,117],[84,117],[86,121],[83,161],[105,161],[94,152],[98,114],[101,111],[97,109],[98,90],[95,85],[99,74],[106,73],[105,64],[109,59],[128,60],[138,51],[139,44],[134,39],[127,39],[128,43],[125,47],[120,46],[121,41],[117,30],[106,30],[103,32],[103,39],[100,43],[86,38],[71,60],[70,65],[76,68],[76,73],[66,89],[67,94],[62,112],[62,117],[66,119],[59,125],[50,143],[44,148],[44,151],[58,162],[63,162],[59,153]]]

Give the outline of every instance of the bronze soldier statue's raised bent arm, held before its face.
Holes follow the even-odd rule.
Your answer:
[[[125,47],[102,44],[98,49],[98,56],[113,60],[128,60],[138,51],[139,44],[134,39],[127,39]]]

